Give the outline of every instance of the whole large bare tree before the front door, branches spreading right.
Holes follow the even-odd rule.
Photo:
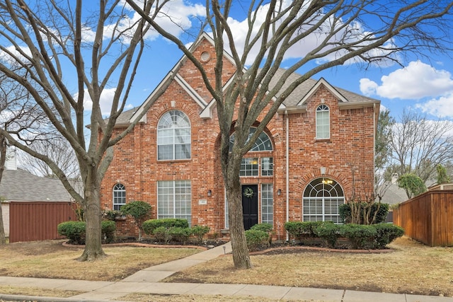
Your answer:
[[[146,0],[142,2],[149,3]],[[217,50],[214,79],[210,79],[202,64],[178,37],[149,18],[136,1],[127,0],[127,3],[161,35],[176,43],[197,66],[216,102],[234,265],[243,268],[251,267],[251,262],[242,220],[241,158],[251,149],[283,100],[300,83],[333,66],[350,62],[379,64],[396,60],[395,54],[403,50],[442,49],[448,42],[445,33],[448,20],[443,17],[453,5],[449,1],[433,0],[392,4],[358,0],[250,1],[248,8],[241,6],[246,11],[248,28],[240,33],[245,39],[239,44],[235,42],[237,35],[229,24],[235,1],[206,1],[206,27],[202,30],[210,31]],[[373,20],[377,22],[370,22]],[[437,37],[430,33],[436,33]],[[289,64],[280,79],[274,79],[283,60],[301,44],[312,47],[299,53],[299,58]],[[222,58],[226,47],[236,64],[236,73],[228,80],[227,86],[222,79]],[[291,57],[297,55],[292,52]],[[289,76],[297,70],[302,71],[302,76],[288,83]],[[285,88],[282,88],[284,84]],[[258,116],[260,124],[249,137],[249,129]],[[230,152],[232,132],[234,146]]]

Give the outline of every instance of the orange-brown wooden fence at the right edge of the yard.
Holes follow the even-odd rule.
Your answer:
[[[430,246],[453,246],[453,190],[430,190],[394,209],[394,224]]]

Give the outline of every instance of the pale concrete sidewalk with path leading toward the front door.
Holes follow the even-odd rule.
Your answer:
[[[0,286],[38,287],[84,291],[84,294],[70,298],[37,296],[13,296],[0,293],[0,300],[9,301],[112,301],[131,293],[141,294],[193,294],[222,296],[254,296],[275,300],[307,300],[333,302],[453,302],[453,298],[440,296],[418,296],[408,294],[386,294],[364,291],[345,291],[340,289],[309,289],[292,286],[262,286],[251,284],[189,284],[159,283],[160,280],[182,269],[199,265],[219,255],[231,252],[230,243],[199,252],[189,257],[148,267],[122,281],[84,281],[69,279],[39,279],[23,277],[0,277]]]

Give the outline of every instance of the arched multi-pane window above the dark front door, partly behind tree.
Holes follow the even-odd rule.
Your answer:
[[[256,132],[255,127],[250,128],[248,133],[248,138],[250,138]],[[229,140],[229,150],[233,149],[234,144],[234,134],[231,135]],[[263,156],[263,153],[260,153],[260,156],[253,156],[253,152],[263,152],[269,151],[269,156]],[[253,144],[250,151],[247,155],[242,158],[241,161],[241,170],[239,171],[239,176],[273,176],[274,175],[274,160],[272,157],[273,145],[270,137],[265,132],[261,132],[258,139],[256,139],[255,144]]]

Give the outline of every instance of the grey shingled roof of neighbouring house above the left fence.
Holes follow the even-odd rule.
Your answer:
[[[9,202],[69,202],[72,200],[57,178],[42,178],[28,171],[4,170],[0,197]]]

